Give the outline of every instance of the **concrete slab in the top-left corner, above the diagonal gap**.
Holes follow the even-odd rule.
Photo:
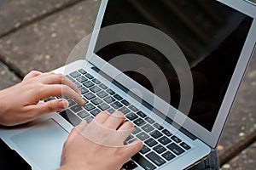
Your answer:
[[[81,0],[1,0],[0,37],[79,1]]]

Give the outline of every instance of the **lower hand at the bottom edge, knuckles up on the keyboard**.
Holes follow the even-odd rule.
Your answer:
[[[63,146],[60,170],[119,170],[143,147],[139,140],[124,145],[133,128],[119,111],[103,111],[89,124],[81,122]]]

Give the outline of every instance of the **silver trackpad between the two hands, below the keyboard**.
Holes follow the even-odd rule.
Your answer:
[[[13,136],[11,140],[40,169],[56,169],[60,167],[62,146],[67,136],[59,124],[49,119]]]

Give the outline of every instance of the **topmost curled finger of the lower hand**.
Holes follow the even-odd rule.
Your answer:
[[[125,122],[124,114],[120,111],[115,111],[102,125],[111,129],[117,129],[123,122]]]

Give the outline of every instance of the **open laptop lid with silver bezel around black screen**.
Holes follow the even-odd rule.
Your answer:
[[[253,53],[255,16],[242,0],[102,1],[86,59],[214,148]]]

